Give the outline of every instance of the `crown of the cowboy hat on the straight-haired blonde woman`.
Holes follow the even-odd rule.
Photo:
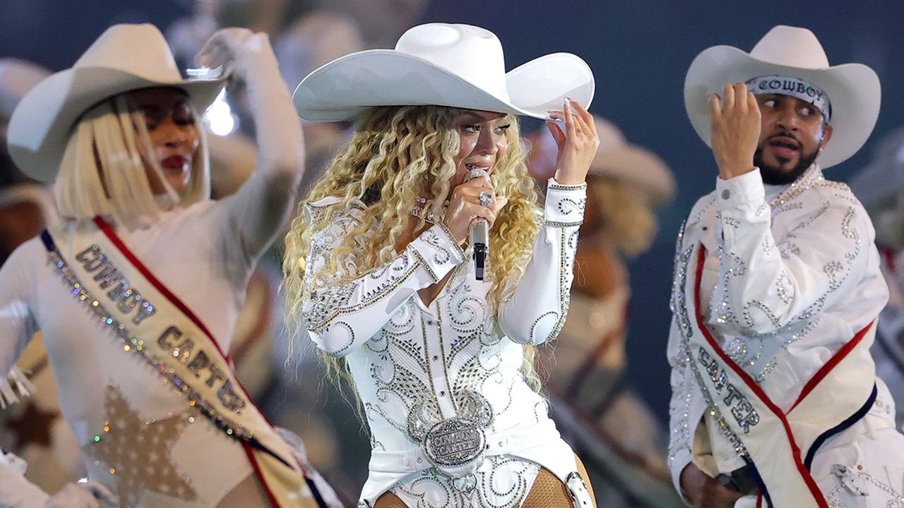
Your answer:
[[[115,69],[156,81],[182,79],[163,33],[153,24],[109,27],[72,68]]]

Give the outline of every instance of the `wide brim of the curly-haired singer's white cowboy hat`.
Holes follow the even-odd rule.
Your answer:
[[[378,106],[447,106],[545,118],[570,97],[584,108],[593,99],[589,66],[570,53],[551,53],[505,74],[508,98],[434,63],[396,50],[345,55],[311,72],[292,96],[298,116],[344,121]]]

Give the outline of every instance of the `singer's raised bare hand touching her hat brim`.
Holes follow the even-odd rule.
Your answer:
[[[563,185],[584,183],[599,146],[593,116],[578,102],[565,99],[562,110],[550,111],[550,118],[565,122],[564,132],[555,122],[546,123],[559,146],[554,176],[556,182]]]

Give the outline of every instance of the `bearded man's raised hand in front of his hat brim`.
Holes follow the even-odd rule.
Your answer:
[[[719,95],[710,97],[712,155],[722,180],[753,170],[753,155],[759,144],[759,105],[744,83],[726,83]]]

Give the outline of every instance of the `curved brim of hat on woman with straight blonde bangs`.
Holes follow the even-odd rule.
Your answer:
[[[198,115],[211,105],[228,76],[216,80],[152,80],[106,67],[60,71],[25,94],[10,118],[7,146],[19,169],[51,183],[60,169],[72,126],[104,99],[135,89],[184,89]]]

